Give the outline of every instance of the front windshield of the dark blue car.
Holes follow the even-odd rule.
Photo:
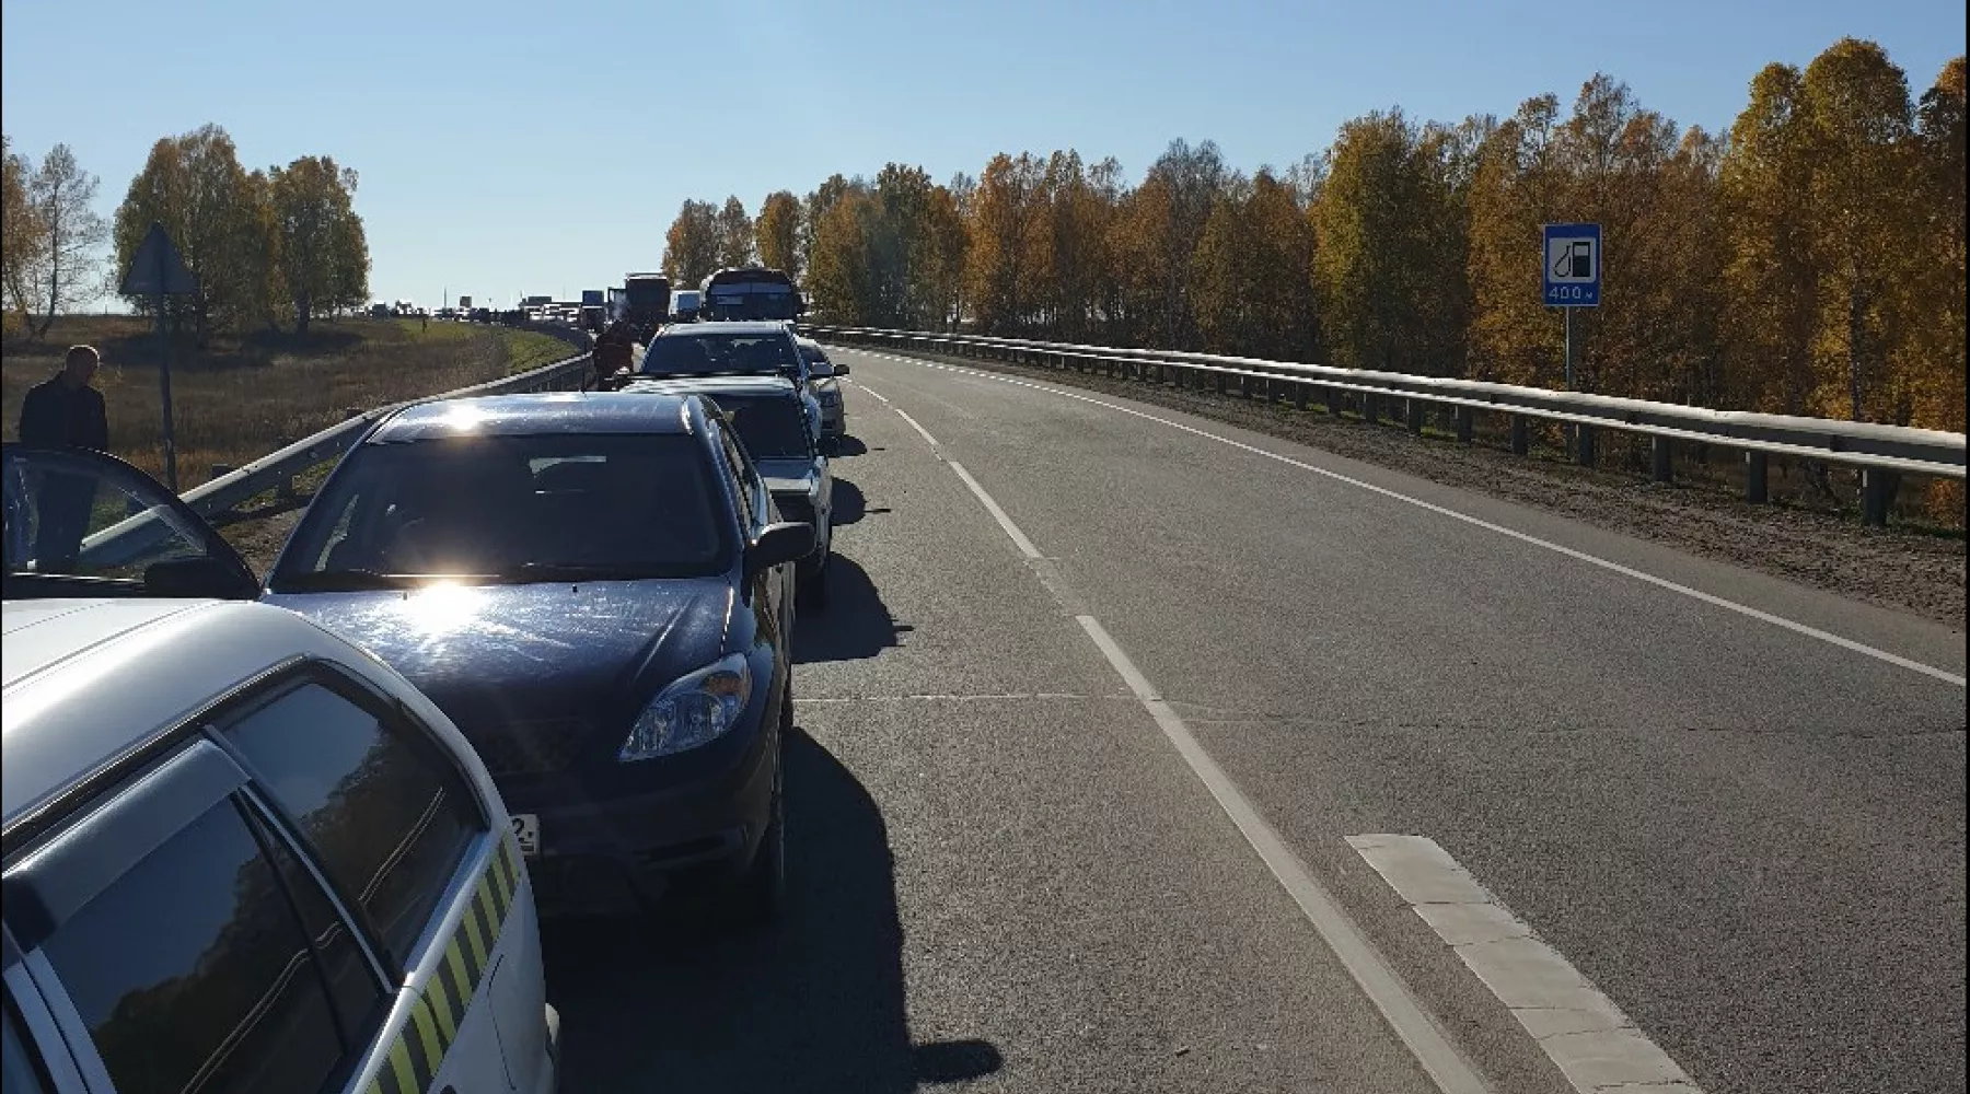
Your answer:
[[[465,577],[699,577],[729,521],[684,435],[443,437],[364,445],[294,533],[276,590]]]

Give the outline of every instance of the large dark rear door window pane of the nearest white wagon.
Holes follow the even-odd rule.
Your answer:
[[[120,1094],[321,1090],[343,1057],[307,937],[234,799],[43,950]]]

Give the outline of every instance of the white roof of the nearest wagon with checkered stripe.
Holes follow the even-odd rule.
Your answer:
[[[0,634],[6,826],[246,681],[355,657],[301,616],[240,600],[8,600]]]

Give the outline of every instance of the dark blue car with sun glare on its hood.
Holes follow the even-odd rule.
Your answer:
[[[766,917],[794,563],[814,549],[699,397],[445,399],[337,464],[266,600],[457,722],[544,907],[640,909],[684,881]]]

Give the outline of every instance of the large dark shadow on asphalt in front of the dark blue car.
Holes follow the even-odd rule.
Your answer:
[[[550,921],[561,1090],[892,1094],[999,1070],[985,1041],[912,1045],[883,813],[825,748],[786,740],[786,915],[739,931]]]

